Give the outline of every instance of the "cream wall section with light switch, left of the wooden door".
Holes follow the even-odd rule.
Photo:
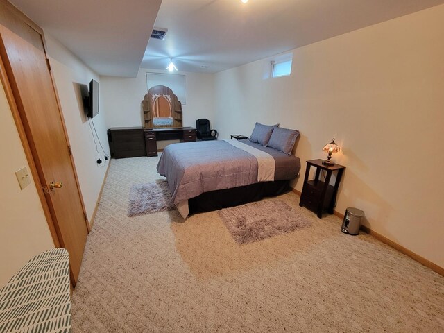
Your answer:
[[[29,259],[54,248],[12,113],[0,85],[0,287]],[[31,184],[20,189],[15,171],[26,167]]]

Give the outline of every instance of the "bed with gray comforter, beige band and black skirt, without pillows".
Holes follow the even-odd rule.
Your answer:
[[[254,131],[250,140],[253,135]],[[264,141],[250,140],[187,142],[164,149],[157,171],[167,177],[173,203],[184,219],[195,212],[240,205],[289,190],[289,180],[299,174],[299,158],[266,146]]]

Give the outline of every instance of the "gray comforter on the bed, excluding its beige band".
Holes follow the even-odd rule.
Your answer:
[[[300,160],[273,148],[242,142],[266,151],[275,159],[275,180],[298,176]],[[178,203],[217,189],[230,189],[257,182],[256,158],[225,141],[170,144],[164,149],[157,171],[166,176],[173,201]]]

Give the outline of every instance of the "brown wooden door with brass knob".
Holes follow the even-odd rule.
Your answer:
[[[71,161],[65,126],[53,86],[42,35],[12,17],[0,25],[0,55],[20,120],[31,148],[40,185],[51,212],[60,245],[69,252],[75,285],[88,228],[80,190]],[[51,182],[62,182],[51,189]],[[37,180],[36,180],[37,183]]]

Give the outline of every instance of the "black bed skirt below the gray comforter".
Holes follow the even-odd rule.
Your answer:
[[[274,182],[257,182],[232,189],[204,192],[200,196],[188,199],[189,214],[244,205],[262,200],[266,196],[278,196],[288,191],[290,191],[289,180],[275,180]]]

